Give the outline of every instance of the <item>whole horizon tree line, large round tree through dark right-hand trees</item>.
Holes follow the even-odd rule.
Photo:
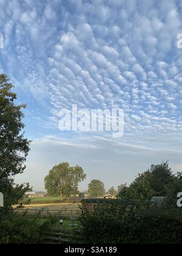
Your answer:
[[[175,197],[182,191],[182,172],[174,174],[168,162],[150,166],[147,171],[138,174],[129,187],[126,184],[120,185],[118,190],[111,187],[106,192],[104,183],[93,179],[88,185],[88,190],[80,193],[78,184],[84,179],[86,174],[81,167],[70,167],[69,163],[60,163],[45,177],[45,189],[50,196],[60,196],[61,199],[78,194],[81,199],[86,194],[92,197],[103,197],[108,194],[120,199],[151,200],[153,196]]]

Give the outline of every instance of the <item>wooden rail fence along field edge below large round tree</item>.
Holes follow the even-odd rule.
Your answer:
[[[61,209],[61,210],[50,210],[50,209],[16,209],[16,213],[19,215],[27,214],[27,215],[38,215],[40,214],[41,216],[49,216],[49,215],[62,215],[62,216],[69,216],[69,217],[77,217],[79,216],[79,211],[78,210],[66,210],[66,209]]]

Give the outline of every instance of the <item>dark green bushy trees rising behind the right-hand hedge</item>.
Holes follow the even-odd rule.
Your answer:
[[[126,185],[118,194],[121,199],[150,200],[153,196],[173,197],[182,191],[180,173],[175,176],[169,168],[168,162],[152,165],[143,174],[139,174],[135,181]]]

